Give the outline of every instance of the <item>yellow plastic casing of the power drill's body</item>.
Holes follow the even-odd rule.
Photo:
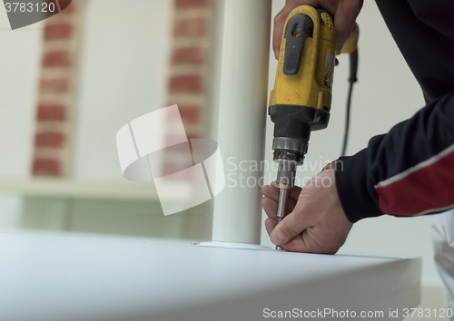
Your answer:
[[[313,34],[306,38],[298,73],[283,73],[287,23],[293,15],[305,14],[313,22]],[[331,87],[336,55],[336,34],[331,15],[318,11],[309,5],[301,5],[291,11],[284,24],[281,51],[270,95],[272,105],[299,105],[330,113]]]

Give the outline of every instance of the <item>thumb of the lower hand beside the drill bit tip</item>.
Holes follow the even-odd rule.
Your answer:
[[[304,229],[310,225],[305,220],[299,218],[301,214],[301,207],[297,203],[295,209],[281,220],[281,223],[271,232],[271,242],[275,245],[282,245],[291,240],[291,238],[300,235]]]

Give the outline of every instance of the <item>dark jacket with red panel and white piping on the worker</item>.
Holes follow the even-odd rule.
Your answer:
[[[376,2],[428,105],[339,160],[337,189],[352,222],[454,208],[454,1]]]

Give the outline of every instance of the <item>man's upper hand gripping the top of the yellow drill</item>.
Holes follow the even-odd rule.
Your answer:
[[[341,53],[343,44],[350,36],[356,17],[360,14],[363,0],[286,0],[281,12],[274,17],[272,49],[279,58],[283,26],[291,10],[299,5],[311,5],[314,8],[328,10],[334,16],[334,27],[337,34],[337,53]]]

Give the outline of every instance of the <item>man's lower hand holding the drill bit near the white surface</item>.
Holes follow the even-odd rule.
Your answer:
[[[271,242],[291,252],[334,254],[350,232],[336,189],[333,164],[315,175],[301,190],[291,190],[288,210],[291,211],[277,224],[279,190],[275,182],[263,186],[262,207],[268,219],[265,227]]]

